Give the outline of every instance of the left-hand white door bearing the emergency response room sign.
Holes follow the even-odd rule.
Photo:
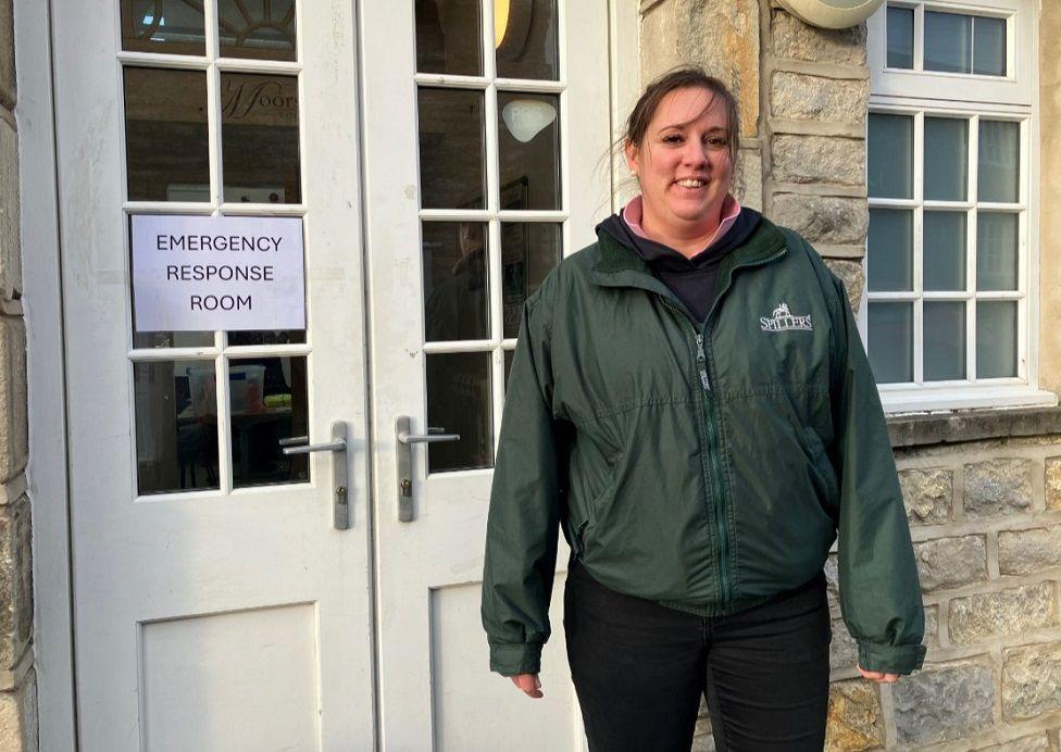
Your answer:
[[[52,22],[80,749],[371,749],[353,4]],[[129,223],[158,213],[301,218],[305,330],[137,331]],[[333,422],[346,453],[280,453]]]

